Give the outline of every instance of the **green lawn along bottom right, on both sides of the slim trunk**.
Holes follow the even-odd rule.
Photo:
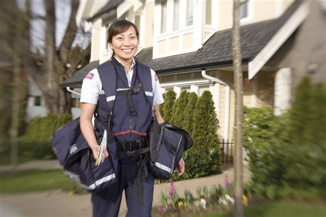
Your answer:
[[[232,212],[218,211],[202,213],[193,217],[231,217]],[[325,217],[325,203],[305,203],[298,201],[276,201],[265,203],[263,205],[254,205],[246,207],[245,216],[250,217]]]

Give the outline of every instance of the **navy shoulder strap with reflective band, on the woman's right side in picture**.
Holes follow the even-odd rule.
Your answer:
[[[147,100],[149,100],[149,104],[153,106],[153,86],[152,86],[152,78],[151,78],[151,69],[146,65],[138,62],[137,64],[137,71],[138,71],[138,78],[142,82],[142,87],[144,88],[144,93],[146,95]]]

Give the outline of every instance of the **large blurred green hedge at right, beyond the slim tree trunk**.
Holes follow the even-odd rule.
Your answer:
[[[325,85],[303,78],[285,115],[244,110],[243,146],[255,190],[269,198],[325,196],[325,103]]]

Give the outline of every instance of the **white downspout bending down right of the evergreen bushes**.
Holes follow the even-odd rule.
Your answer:
[[[212,80],[213,82],[217,82],[226,87],[226,117],[224,119],[224,141],[228,142],[228,128],[230,122],[230,86],[226,84],[226,82],[222,82],[218,78],[214,78],[212,76],[208,76],[206,74],[206,69],[202,69],[202,76],[208,80]]]

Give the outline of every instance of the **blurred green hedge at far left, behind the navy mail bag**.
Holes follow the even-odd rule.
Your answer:
[[[19,155],[36,159],[54,159],[50,139],[58,128],[72,119],[70,114],[36,117],[28,122],[25,134],[19,138]]]

